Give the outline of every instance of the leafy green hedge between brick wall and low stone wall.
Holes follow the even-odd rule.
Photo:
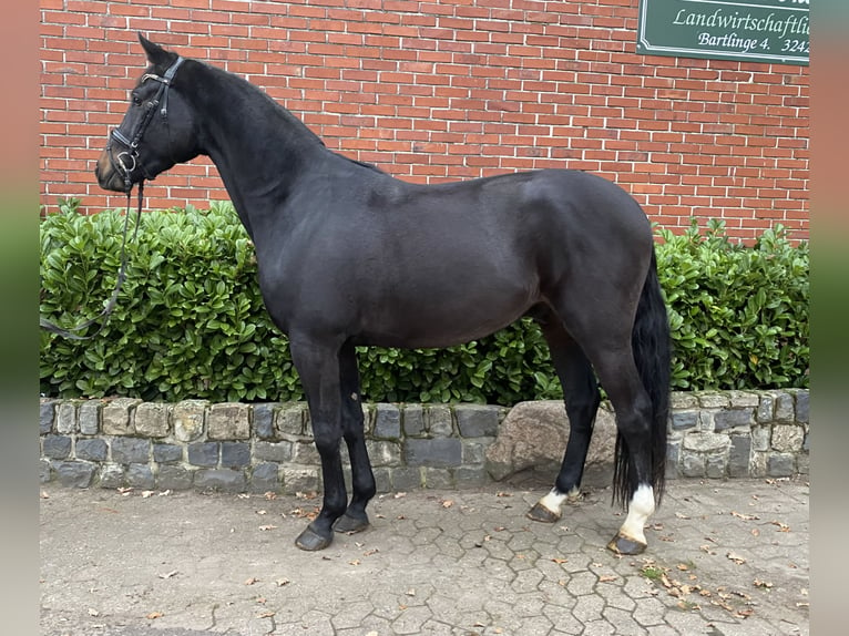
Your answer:
[[[80,215],[74,202],[41,222],[42,316],[69,327],[99,314],[115,285],[123,223],[119,211]],[[674,388],[806,387],[807,245],[791,245],[778,228],[741,247],[719,223],[658,234]],[[42,330],[45,396],[303,398],[231,204],[145,213],[129,254],[124,288],[98,338]],[[359,356],[362,393],[372,401],[512,404],[561,396],[545,342],[528,319],[451,349],[364,348]]]

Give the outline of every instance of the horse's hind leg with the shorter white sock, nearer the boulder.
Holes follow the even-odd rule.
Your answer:
[[[580,493],[601,394],[590,361],[565,330],[560,318],[550,311],[540,317],[539,322],[563,387],[570,429],[566,451],[554,488],[528,512],[528,516],[534,521],[555,522],[561,516],[563,502],[577,497]]]

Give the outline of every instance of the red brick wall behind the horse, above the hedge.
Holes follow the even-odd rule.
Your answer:
[[[93,176],[145,65],[136,32],[246,76],[325,143],[409,181],[593,171],[667,227],[808,237],[802,66],[635,53],[637,0],[40,0],[41,202]],[[204,157],[151,207],[226,198]]]

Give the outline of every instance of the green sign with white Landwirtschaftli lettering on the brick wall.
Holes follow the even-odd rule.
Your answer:
[[[640,0],[637,53],[808,64],[810,0]]]

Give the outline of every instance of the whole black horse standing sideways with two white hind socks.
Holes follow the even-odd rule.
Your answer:
[[[569,170],[405,183],[329,151],[245,80],[140,40],[150,66],[98,181],[130,192],[197,155],[217,166],[256,247],[266,308],[288,335],[321,458],[321,512],[298,547],[324,548],[334,530],[369,523],[375,479],[355,347],[447,347],[530,315],[551,348],[571,431],[554,488],[528,514],[553,522],[577,494],[597,375],[616,413],[614,500],[628,510],[608,547],[642,552],[664,484],[669,330],[640,205]]]

